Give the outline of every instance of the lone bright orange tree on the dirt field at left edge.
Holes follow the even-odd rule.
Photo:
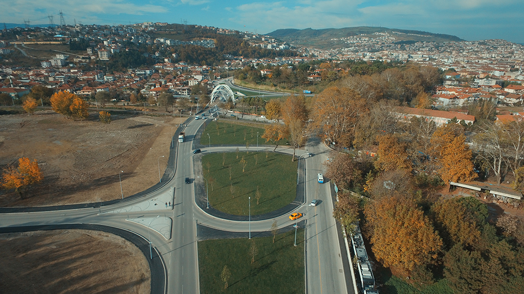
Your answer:
[[[43,180],[42,172],[35,159],[30,161],[27,157],[18,159],[18,167],[8,166],[2,173],[2,187],[4,189],[15,189],[20,197],[23,192],[34,184]]]

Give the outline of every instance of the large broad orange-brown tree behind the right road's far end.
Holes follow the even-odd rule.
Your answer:
[[[368,111],[366,101],[350,88],[330,87],[314,104],[314,122],[330,143],[350,146],[358,119]]]

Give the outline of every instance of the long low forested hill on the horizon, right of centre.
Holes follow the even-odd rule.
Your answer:
[[[341,47],[345,39],[352,36],[363,35],[368,38],[392,37],[395,41],[426,41],[426,42],[450,42],[463,41],[461,38],[444,35],[441,33],[431,33],[416,30],[389,29],[383,27],[352,27],[341,29],[320,29],[307,28],[299,29],[279,29],[270,33],[271,36],[282,41],[287,41],[295,46],[308,46],[319,49],[329,49]]]

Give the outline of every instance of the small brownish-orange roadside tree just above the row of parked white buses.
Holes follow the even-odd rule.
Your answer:
[[[350,193],[339,193],[339,201],[335,203],[333,209],[333,218],[340,220],[346,230],[346,236],[351,235],[360,220],[358,218],[358,199]]]

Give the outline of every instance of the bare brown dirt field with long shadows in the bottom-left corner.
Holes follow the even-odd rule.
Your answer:
[[[146,257],[112,234],[86,230],[0,234],[0,293],[150,292]]]

